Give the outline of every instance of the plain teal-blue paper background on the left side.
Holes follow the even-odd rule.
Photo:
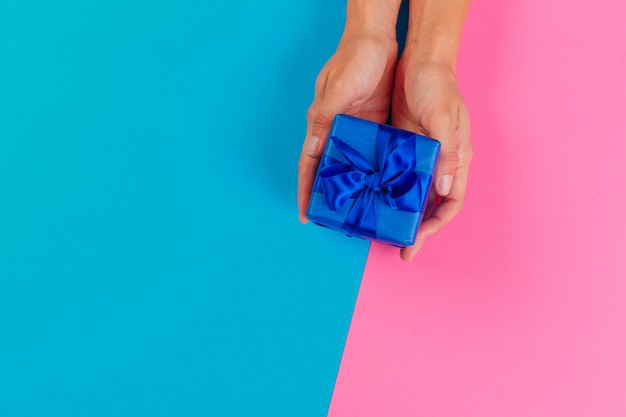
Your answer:
[[[368,244],[298,223],[345,3],[0,3],[0,415],[323,416]]]

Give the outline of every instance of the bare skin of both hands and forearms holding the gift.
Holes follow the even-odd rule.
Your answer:
[[[456,55],[468,0],[411,0],[404,53],[397,60],[400,0],[348,0],[346,26],[335,54],[320,71],[298,163],[298,211],[305,212],[332,121],[338,113],[392,124],[438,139],[434,191],[410,261],[428,236],[462,209],[472,158],[469,114],[459,92]]]

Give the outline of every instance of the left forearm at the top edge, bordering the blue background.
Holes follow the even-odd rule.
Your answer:
[[[348,0],[344,34],[395,40],[402,0]]]

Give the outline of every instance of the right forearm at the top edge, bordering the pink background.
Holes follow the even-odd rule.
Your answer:
[[[471,0],[411,0],[406,53],[412,61],[434,62],[454,71]]]

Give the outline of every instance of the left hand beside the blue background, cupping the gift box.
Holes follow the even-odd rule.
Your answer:
[[[344,34],[320,71],[298,162],[298,212],[306,223],[315,173],[339,113],[384,123],[389,116],[398,45],[382,34]]]

